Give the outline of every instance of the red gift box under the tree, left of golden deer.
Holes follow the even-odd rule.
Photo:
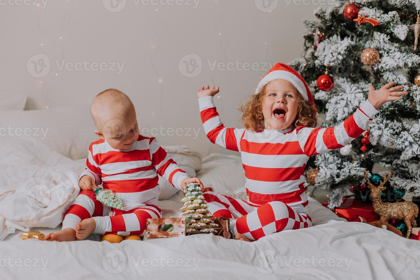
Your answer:
[[[328,202],[323,202],[323,206],[327,207]],[[344,197],[340,207],[333,210],[337,216],[346,220],[351,220],[354,216],[359,215],[366,219],[366,222],[379,220],[379,215],[373,211],[371,202],[363,202],[353,197]]]

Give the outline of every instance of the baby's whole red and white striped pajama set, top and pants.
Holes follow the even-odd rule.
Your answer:
[[[157,174],[180,190],[181,181],[189,178],[155,138],[142,135],[128,150],[113,149],[103,139],[92,142],[86,165],[80,177],[89,175],[95,179],[96,185],[102,183],[104,189],[114,191],[123,202],[124,210],[105,207],[96,200],[93,191],[84,190],[68,208],[63,229],[76,230],[79,222],[93,217],[96,224],[94,233],[143,235],[147,219],[162,216],[157,207],[160,194]]]

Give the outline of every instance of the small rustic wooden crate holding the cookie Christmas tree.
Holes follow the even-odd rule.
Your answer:
[[[202,219],[194,219],[197,222],[202,222]],[[215,236],[223,236],[224,238],[231,238],[229,233],[229,219],[225,218],[210,218],[214,223],[218,225],[213,233]],[[172,225],[173,230],[162,231],[159,228],[163,225]],[[194,233],[196,234],[196,233]],[[205,233],[203,233],[205,234]],[[177,236],[188,236],[190,233],[186,232],[186,221],[185,218],[162,218],[162,219],[147,219],[147,238],[166,238],[166,237],[177,237]]]

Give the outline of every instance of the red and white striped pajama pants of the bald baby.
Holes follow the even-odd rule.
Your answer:
[[[114,215],[108,216],[110,211],[114,212]],[[84,190],[76,196],[76,199],[68,208],[63,220],[63,229],[73,228],[76,230],[76,225],[79,222],[90,217],[101,219],[101,228],[99,232],[95,230],[94,233],[118,234],[121,236],[143,235],[146,230],[147,219],[161,218],[162,211],[156,205],[151,204],[144,204],[144,207],[129,211],[110,208],[96,200],[94,191]]]

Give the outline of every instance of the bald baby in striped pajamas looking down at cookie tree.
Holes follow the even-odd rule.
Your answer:
[[[82,191],[68,208],[62,230],[45,240],[82,240],[91,233],[141,236],[148,218],[162,216],[157,174],[179,190],[194,182],[202,188],[200,180],[189,178],[155,138],[139,135],[136,110],[126,94],[116,89],[101,92],[93,99],[91,113],[101,139],[89,146],[87,168],[79,178]],[[96,200],[94,190],[100,183],[115,192],[124,210]]]

